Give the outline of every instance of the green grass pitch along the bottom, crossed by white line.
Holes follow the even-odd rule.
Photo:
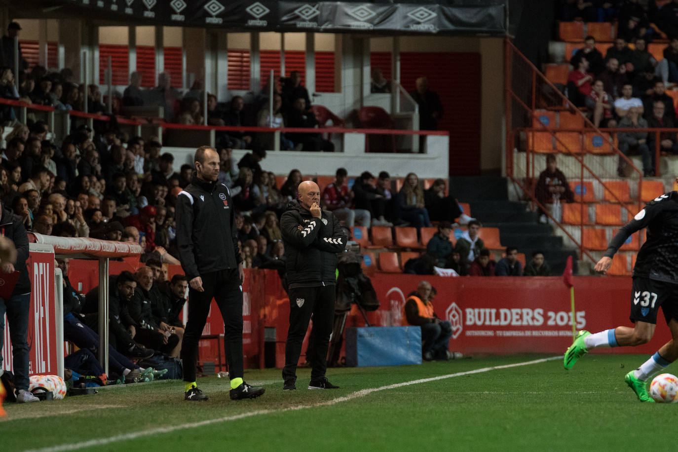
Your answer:
[[[124,434],[134,438],[90,443],[84,449],[675,450],[671,435],[678,405],[639,403],[624,384],[624,374],[645,361],[644,355],[593,354],[571,371],[557,359],[355,394],[543,357],[330,369],[327,375],[339,390],[307,390],[308,369],[298,372],[298,390],[284,392],[279,370],[246,371],[247,382],[266,386],[266,394],[256,400],[230,400],[228,382],[207,377],[198,381],[210,396],[203,403],[184,402],[183,384],[175,381],[105,388],[54,402],[5,404],[0,450],[75,445]],[[669,372],[678,371],[669,367]]]

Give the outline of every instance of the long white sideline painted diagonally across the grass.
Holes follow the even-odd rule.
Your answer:
[[[410,382],[389,384],[389,385],[386,385],[386,386],[380,386],[379,388],[363,389],[363,390],[353,392],[352,394],[348,394],[347,396],[333,398],[332,400],[327,400],[325,402],[311,403],[311,404],[308,404],[308,405],[296,405],[295,407],[288,407],[288,408],[283,408],[283,409],[260,409],[260,410],[250,411],[248,413],[242,413],[242,414],[237,414],[237,415],[233,415],[233,416],[217,417],[216,419],[207,419],[205,421],[192,422],[191,424],[180,424],[178,426],[151,428],[151,429],[148,429],[148,430],[141,430],[140,432],[131,432],[131,433],[119,434],[119,435],[115,435],[115,436],[109,436],[108,438],[92,439],[92,440],[88,440],[88,441],[83,441],[81,443],[62,444],[62,445],[58,445],[58,446],[44,447],[42,449],[31,449],[29,452],[72,451],[72,450],[75,450],[75,449],[83,449],[85,447],[98,447],[98,446],[102,446],[102,445],[106,445],[106,444],[110,444],[110,443],[115,443],[117,441],[132,440],[132,439],[140,438],[142,436],[150,436],[150,435],[160,434],[160,433],[170,433],[170,432],[175,432],[176,430],[184,430],[186,428],[196,428],[196,427],[208,426],[210,424],[216,424],[218,422],[235,421],[237,419],[244,419],[245,417],[252,417],[252,416],[264,415],[264,414],[269,414],[269,413],[283,413],[285,411],[298,411],[298,410],[306,409],[306,408],[325,407],[325,406],[328,406],[328,405],[335,405],[337,403],[347,402],[348,400],[353,400],[354,398],[364,397],[368,394],[372,394],[373,392],[379,392],[379,391],[384,391],[384,390],[388,390],[388,389],[401,388],[403,386],[411,386],[413,384],[436,382],[437,380],[440,380],[440,379],[447,379],[447,378],[452,378],[452,377],[462,377],[463,375],[473,375],[474,373],[489,372],[489,371],[494,371],[494,370],[497,370],[497,369],[509,369],[511,367],[520,367],[520,366],[527,366],[527,365],[531,365],[531,364],[546,363],[546,361],[553,361],[555,359],[562,359],[562,358],[563,358],[562,355],[561,356],[551,356],[551,358],[535,359],[534,361],[524,361],[523,363],[505,364],[505,365],[493,366],[493,367],[482,367],[481,369],[475,369],[473,371],[450,373],[450,374],[447,374],[447,375],[439,375],[437,377],[415,379],[415,380],[412,380]]]

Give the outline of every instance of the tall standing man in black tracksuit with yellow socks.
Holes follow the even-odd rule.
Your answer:
[[[231,194],[216,182],[219,155],[214,148],[202,146],[195,151],[195,171],[191,184],[176,199],[176,241],[189,286],[188,321],[181,348],[184,399],[207,400],[195,384],[195,361],[212,297],[224,319],[231,398],[258,397],[264,388],[243,382],[244,272]]]

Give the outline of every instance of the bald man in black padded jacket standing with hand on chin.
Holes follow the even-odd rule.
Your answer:
[[[313,315],[311,331],[311,383],[308,389],[335,389],[325,378],[327,346],[334,323],[336,253],[344,251],[346,234],[339,220],[319,206],[320,189],[315,182],[299,184],[299,199],[287,205],[280,229],[287,259],[290,295],[290,330],[285,344],[284,390],[296,389],[296,366]]]

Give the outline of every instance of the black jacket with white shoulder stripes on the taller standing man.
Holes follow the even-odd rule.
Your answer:
[[[231,193],[193,177],[176,199],[176,243],[188,281],[242,262]]]

